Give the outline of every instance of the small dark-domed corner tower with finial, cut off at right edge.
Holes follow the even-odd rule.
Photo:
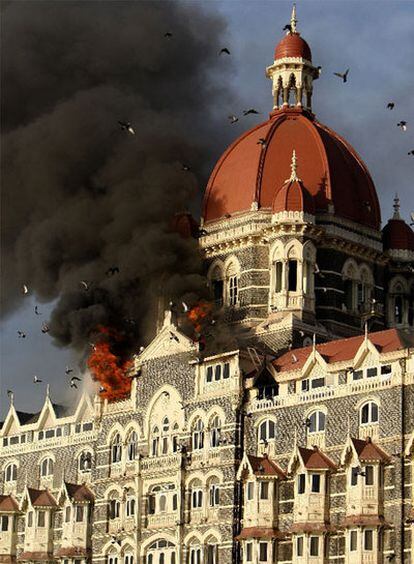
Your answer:
[[[400,200],[394,198],[394,215],[382,230],[389,258],[386,314],[389,327],[414,327],[414,232],[401,218]]]

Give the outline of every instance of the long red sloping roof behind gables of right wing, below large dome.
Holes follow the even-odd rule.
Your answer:
[[[347,339],[337,339],[316,345],[316,350],[328,364],[345,362],[355,357],[364,338],[364,335],[358,335],[357,337],[349,337]],[[398,329],[386,329],[385,331],[369,333],[368,338],[380,353],[403,350],[409,346],[414,346],[414,333]],[[276,358],[272,364],[278,372],[300,370],[312,350],[312,346],[292,349]]]

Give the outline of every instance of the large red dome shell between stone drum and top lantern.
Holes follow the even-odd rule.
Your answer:
[[[295,108],[274,112],[227,149],[207,185],[204,221],[249,211],[253,203],[271,209],[290,177],[293,150],[316,212],[333,204],[336,215],[380,229],[378,197],[361,158],[337,133]]]

